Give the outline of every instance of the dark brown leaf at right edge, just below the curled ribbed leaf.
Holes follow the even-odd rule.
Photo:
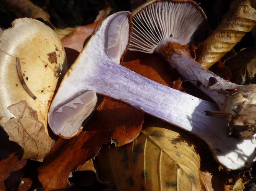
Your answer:
[[[236,84],[256,83],[256,48],[242,50],[235,57],[226,60],[225,65],[233,73],[231,78]]]

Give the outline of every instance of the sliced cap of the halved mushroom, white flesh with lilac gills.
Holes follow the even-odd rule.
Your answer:
[[[71,138],[80,132],[97,102],[93,91],[97,84],[88,85],[86,79],[98,75],[98,68],[106,60],[119,63],[129,39],[130,12],[115,13],[102,22],[62,79],[51,104],[48,121],[55,134]]]

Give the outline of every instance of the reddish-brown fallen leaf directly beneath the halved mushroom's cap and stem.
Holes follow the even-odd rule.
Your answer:
[[[112,139],[119,145],[133,141],[141,131],[142,123],[142,112],[121,102],[105,99],[94,112],[86,131],[69,140],[58,139],[38,170],[44,189],[69,186],[71,172],[97,155],[103,144]]]

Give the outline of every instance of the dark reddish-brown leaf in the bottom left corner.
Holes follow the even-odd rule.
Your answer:
[[[20,160],[22,149],[9,141],[7,134],[0,128],[0,190],[15,190],[20,183],[21,169],[27,160]]]

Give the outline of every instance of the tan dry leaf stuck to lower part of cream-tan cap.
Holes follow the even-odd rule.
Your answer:
[[[26,101],[10,105],[8,110],[15,116],[5,122],[10,141],[17,142],[23,149],[22,159],[43,161],[54,144],[38,121],[38,115]]]

